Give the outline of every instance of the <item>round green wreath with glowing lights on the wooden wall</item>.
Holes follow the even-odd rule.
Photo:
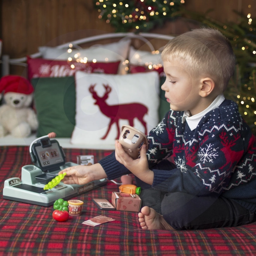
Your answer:
[[[148,31],[161,25],[180,10],[184,0],[94,0],[99,19],[105,19],[116,32],[129,29]]]

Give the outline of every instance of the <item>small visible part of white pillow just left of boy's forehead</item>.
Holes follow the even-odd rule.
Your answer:
[[[149,62],[152,62],[152,65],[163,65],[163,61],[161,59],[161,52],[159,52],[158,54],[152,54],[152,52],[136,50],[132,46],[130,47],[129,62],[130,64],[137,66],[144,66],[145,63],[149,64]]]

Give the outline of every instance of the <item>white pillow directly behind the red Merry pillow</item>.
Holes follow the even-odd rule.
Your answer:
[[[120,40],[117,43],[108,43],[106,45],[94,45],[86,49],[73,49],[71,53],[67,52],[67,49],[59,49],[57,47],[38,47],[40,53],[42,53],[43,59],[55,59],[55,60],[67,60],[71,57],[73,60],[74,55],[78,54],[78,58],[86,57],[88,62],[92,62],[96,59],[97,62],[114,62],[121,61],[119,65],[119,74],[126,74],[125,65],[123,62],[128,57],[128,50],[131,40]]]

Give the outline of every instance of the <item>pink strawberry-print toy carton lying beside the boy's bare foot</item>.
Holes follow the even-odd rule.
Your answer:
[[[140,211],[141,199],[137,194],[112,192],[112,204],[117,211]]]

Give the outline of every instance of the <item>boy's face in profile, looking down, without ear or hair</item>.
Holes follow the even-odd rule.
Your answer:
[[[165,91],[165,97],[171,109],[174,111],[189,110],[192,115],[197,114],[201,98],[199,79],[192,78],[176,61],[164,61],[164,73],[166,80],[161,89]]]

